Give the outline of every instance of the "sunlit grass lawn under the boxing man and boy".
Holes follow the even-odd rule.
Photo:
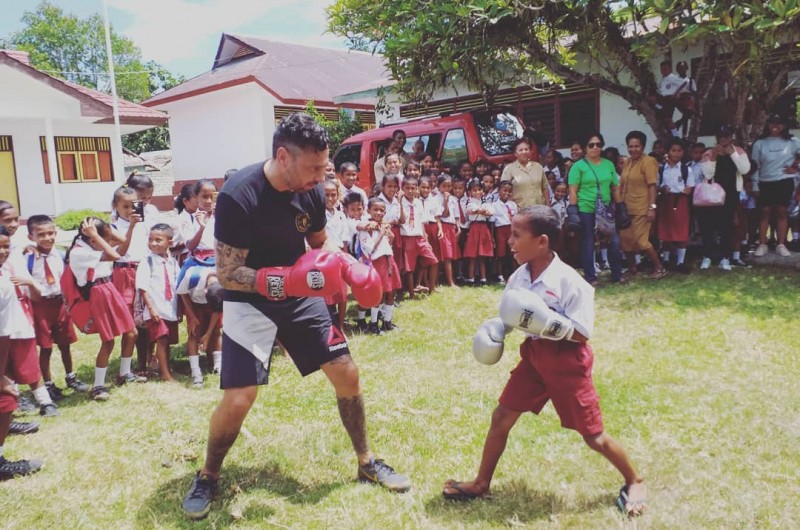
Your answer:
[[[755,269],[597,292],[595,383],[606,429],[647,479],[650,509],[635,523],[614,507],[617,472],[560,428],[551,406],[511,434],[493,498],[454,504],[448,478],[477,470],[490,413],[522,334],[495,366],[471,337],[494,316],[499,288],[445,289],[404,302],[402,330],[350,341],[366,396],[371,445],[408,473],[393,495],[355,482],[355,458],[322,374],[302,380],[278,358],[245,422],[205,521],[180,501],[202,462],[218,378],[112,388],[107,403],[71,396],[41,431],[6,443],[45,468],[0,484],[0,526],[45,528],[662,528],[800,527],[800,277]],[[75,348],[92,380],[95,337]],[[116,374],[118,352],[109,370]],[[63,368],[53,359],[59,385]],[[31,419],[34,417],[31,416]],[[38,419],[38,417],[37,417]]]

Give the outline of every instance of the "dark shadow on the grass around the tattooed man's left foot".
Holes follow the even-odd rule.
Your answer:
[[[137,512],[136,526],[146,528],[157,523],[159,526],[202,528],[192,523],[181,509],[181,502],[193,478],[194,473],[187,473],[163,483]],[[265,491],[281,496],[292,504],[317,504],[346,484],[345,481],[303,484],[287,475],[275,462],[266,462],[259,467],[226,466],[217,496],[211,505],[211,513],[204,523],[208,527],[227,528],[237,520],[263,521],[274,515],[275,510],[269,506],[270,498],[266,496],[248,498],[244,509],[239,512],[235,500],[240,494],[253,495]]]

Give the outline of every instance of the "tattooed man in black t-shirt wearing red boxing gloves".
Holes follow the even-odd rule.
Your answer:
[[[342,279],[362,305],[382,295],[375,271],[340,254],[325,237],[327,161],[325,130],[307,114],[291,114],[275,129],[272,159],[239,170],[219,193],[214,236],[225,288],[224,393],[211,415],[205,463],[183,501],[192,519],[210,510],[222,462],[258,387],[267,384],[276,340],[303,376],[322,370],[333,384],[359,480],[392,491],[411,487],[369,449],[358,368],[321,298],[339,290]]]

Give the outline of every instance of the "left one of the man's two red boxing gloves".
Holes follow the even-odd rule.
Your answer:
[[[340,287],[342,262],[331,252],[306,252],[291,267],[264,267],[256,271],[256,291],[267,300],[289,296],[332,296]]]

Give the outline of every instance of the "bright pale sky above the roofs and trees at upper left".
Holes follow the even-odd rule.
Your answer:
[[[107,0],[114,30],[130,37],[145,60],[194,77],[211,69],[220,35],[239,33],[283,42],[344,48],[325,31],[324,9],[333,0]],[[85,17],[103,12],[102,0],[51,0]],[[2,0],[0,36],[21,29],[25,11],[39,0]]]

